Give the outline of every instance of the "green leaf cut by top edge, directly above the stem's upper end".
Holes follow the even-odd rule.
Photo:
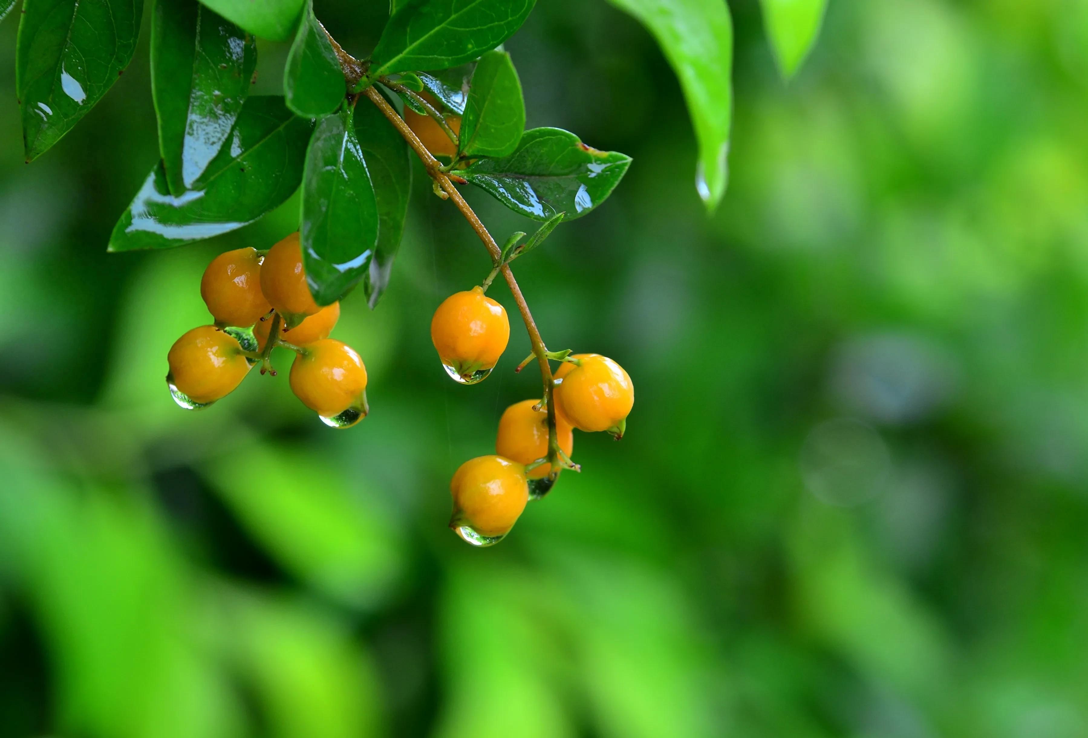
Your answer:
[[[417,0],[397,3],[371,56],[371,79],[472,61],[521,27],[536,0]]]

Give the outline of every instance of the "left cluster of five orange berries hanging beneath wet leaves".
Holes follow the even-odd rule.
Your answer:
[[[290,389],[304,405],[335,428],[366,417],[367,367],[354,348],[329,337],[339,303],[313,302],[297,233],[263,255],[239,248],[215,257],[200,296],[214,324],[185,333],[166,356],[166,383],[178,405],[199,409],[226,396],[256,364],[262,374],[271,370],[271,350],[283,345],[296,353]]]

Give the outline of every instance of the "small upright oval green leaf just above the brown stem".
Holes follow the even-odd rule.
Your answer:
[[[506,157],[514,152],[526,130],[521,82],[505,51],[480,58],[461,121],[461,153],[470,157]]]

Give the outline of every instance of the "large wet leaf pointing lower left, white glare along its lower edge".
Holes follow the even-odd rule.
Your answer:
[[[257,220],[298,188],[312,126],[282,97],[249,98],[193,192],[171,195],[162,162],[156,164],[113,227],[109,250],[182,246]]]

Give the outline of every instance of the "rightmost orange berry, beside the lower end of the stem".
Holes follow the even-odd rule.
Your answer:
[[[634,406],[634,384],[623,368],[599,354],[574,354],[579,364],[565,361],[555,378],[556,409],[582,431],[609,431],[616,438],[627,428]]]

